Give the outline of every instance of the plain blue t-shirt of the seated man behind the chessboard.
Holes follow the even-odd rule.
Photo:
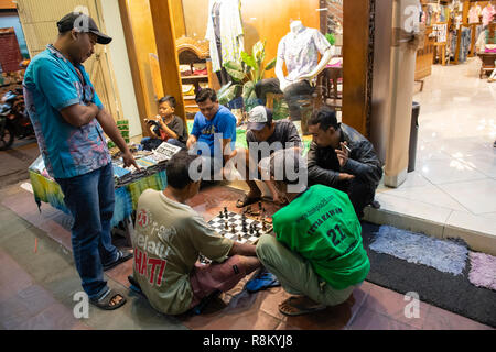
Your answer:
[[[220,152],[220,139],[230,139],[231,151],[236,147],[236,118],[233,112],[224,106],[219,106],[217,113],[209,121],[198,111],[196,112],[191,134],[196,136],[198,143],[203,142],[208,145],[208,156],[219,155],[219,157],[222,157],[224,154]],[[215,140],[215,134],[219,134],[217,140]],[[208,151],[205,151],[205,153]],[[202,155],[204,155],[203,151]]]

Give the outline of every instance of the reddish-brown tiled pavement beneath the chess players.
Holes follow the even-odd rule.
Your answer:
[[[69,232],[61,221],[63,217],[48,205],[43,205],[42,213],[37,212],[32,195],[19,185],[15,187],[1,195],[0,206],[0,220],[15,231],[9,230],[8,234],[2,227],[0,237],[2,329],[490,329],[424,302],[420,305],[419,318],[407,318],[403,295],[368,282],[339,306],[315,315],[285,317],[279,312],[278,304],[289,295],[281,287],[248,294],[242,289],[247,277],[212,301],[200,316],[166,317],[128,289],[131,261],[107,272],[109,284],[127,293],[125,307],[115,312],[91,308],[90,319],[79,321],[72,315],[74,302],[71,297],[80,287],[67,251],[71,250]],[[208,219],[224,206],[234,210],[238,197],[239,191],[233,188],[208,187],[193,198],[191,205]],[[266,204],[266,209],[274,211],[271,204]],[[43,239],[46,235],[53,235],[55,241],[46,242]],[[34,239],[39,239],[40,246],[33,262]],[[61,248],[65,254],[61,254]],[[55,268],[64,271],[64,274],[57,273],[61,277],[52,277]]]

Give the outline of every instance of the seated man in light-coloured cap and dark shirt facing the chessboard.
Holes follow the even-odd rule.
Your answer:
[[[272,111],[263,106],[255,107],[248,117],[246,133],[248,150],[236,150],[238,161],[246,166],[246,183],[250,191],[238,200],[236,206],[242,208],[261,199],[261,191],[255,179],[262,179],[272,194],[273,202],[284,205],[270,180],[270,155],[282,148],[302,150],[301,138],[296,127],[290,120],[272,120]],[[251,163],[251,166],[250,166]]]

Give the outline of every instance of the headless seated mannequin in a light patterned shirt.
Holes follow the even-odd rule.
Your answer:
[[[322,55],[320,62],[319,53]],[[314,78],[325,68],[332,55],[333,47],[319,30],[305,28],[300,20],[291,21],[290,32],[279,42],[277,78],[257,82],[257,97],[265,105],[267,92],[284,94],[291,120],[301,120],[302,101],[312,98]],[[284,63],[288,76],[282,69]]]

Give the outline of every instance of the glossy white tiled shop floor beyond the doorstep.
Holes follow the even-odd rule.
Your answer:
[[[399,188],[379,186],[389,215],[370,210],[368,220],[406,224],[395,223],[399,213],[422,219],[410,228],[432,235],[463,230],[474,250],[496,255],[496,84],[479,79],[479,67],[477,57],[432,67],[413,97],[421,105],[416,170]]]

